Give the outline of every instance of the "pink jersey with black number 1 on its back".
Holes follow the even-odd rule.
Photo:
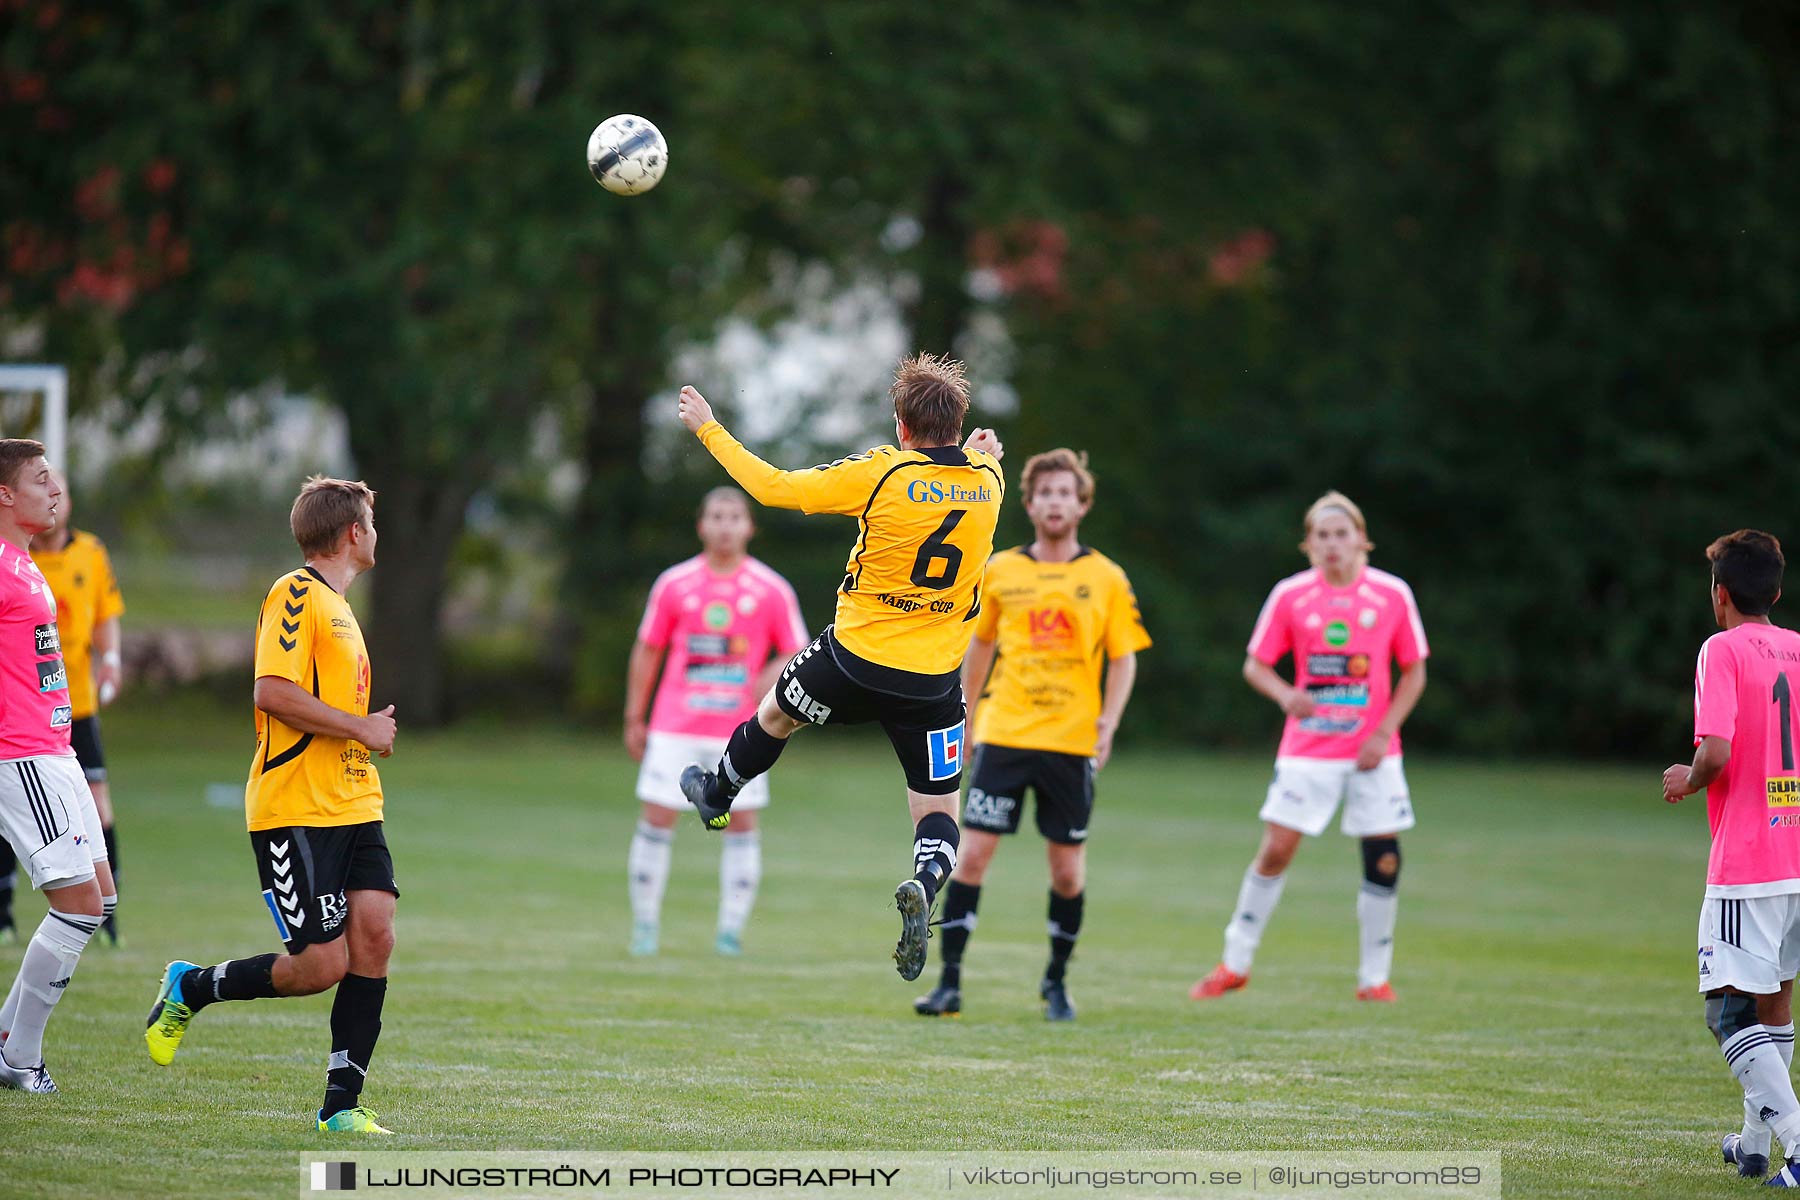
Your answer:
[[[1694,667],[1694,741],[1724,738],[1732,761],[1706,788],[1708,896],[1800,892],[1800,633],[1746,622],[1714,633]]]

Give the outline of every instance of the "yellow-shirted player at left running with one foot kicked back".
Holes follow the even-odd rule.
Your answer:
[[[256,626],[256,757],[245,788],[263,903],[286,954],[169,963],[144,1042],[169,1065],[216,1000],[337,988],[326,1133],[387,1133],[362,1106],[394,950],[394,860],[371,756],[394,752],[394,705],[369,712],[369,651],[344,592],[374,567],[374,491],[313,477],[290,515],[306,565],[275,579]]]

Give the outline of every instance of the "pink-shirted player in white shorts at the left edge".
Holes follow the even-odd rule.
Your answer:
[[[101,815],[68,743],[56,597],[27,547],[56,527],[43,444],[0,439],[0,833],[50,905],[0,1006],[0,1087],[54,1092],[43,1027],[81,950],[117,905]]]

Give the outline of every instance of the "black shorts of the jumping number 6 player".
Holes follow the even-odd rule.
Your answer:
[[[776,682],[776,702],[796,721],[880,721],[900,757],[905,786],[950,795],[963,786],[963,680],[958,671],[914,675],[859,658],[832,628],[794,655]]]

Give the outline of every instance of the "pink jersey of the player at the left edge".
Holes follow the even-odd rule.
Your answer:
[[[68,718],[56,597],[31,554],[0,542],[0,759],[72,754]]]

